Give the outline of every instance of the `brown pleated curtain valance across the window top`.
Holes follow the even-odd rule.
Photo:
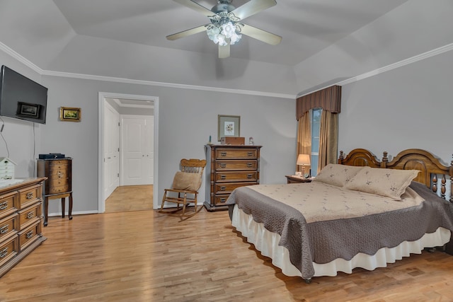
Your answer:
[[[305,112],[313,108],[340,113],[341,86],[331,86],[297,98],[296,120],[299,120]]]

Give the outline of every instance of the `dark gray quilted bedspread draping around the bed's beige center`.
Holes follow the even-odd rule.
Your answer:
[[[412,182],[411,188],[425,199],[418,206],[312,223],[306,223],[299,211],[249,187],[234,190],[227,202],[232,206],[237,204],[268,231],[280,234],[279,245],[289,250],[292,264],[300,270],[302,278],[311,279],[313,262],[350,260],[358,252],[374,255],[380,248],[393,248],[404,240],[418,240],[439,227],[453,231],[453,204],[418,182]]]

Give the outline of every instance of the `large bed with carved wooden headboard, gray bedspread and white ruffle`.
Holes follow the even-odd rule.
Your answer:
[[[452,252],[453,161],[407,149],[389,161],[366,149],[326,165],[311,183],[239,187],[231,224],[287,276],[373,270],[425,248]],[[449,182],[449,183],[448,183]],[[452,240],[453,241],[453,240]]]

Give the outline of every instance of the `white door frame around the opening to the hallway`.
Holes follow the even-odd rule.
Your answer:
[[[125,98],[130,100],[143,100],[154,102],[154,185],[153,191],[158,191],[158,178],[157,173],[159,170],[159,97],[149,95],[132,95],[124,93],[98,93],[98,213],[105,212],[105,198],[104,198],[104,165],[103,165],[103,154],[104,154],[104,102],[105,98]],[[153,209],[157,209],[158,194],[153,194]]]

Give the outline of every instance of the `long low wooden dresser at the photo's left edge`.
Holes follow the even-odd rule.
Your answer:
[[[0,277],[46,240],[41,232],[44,180],[0,187]]]

